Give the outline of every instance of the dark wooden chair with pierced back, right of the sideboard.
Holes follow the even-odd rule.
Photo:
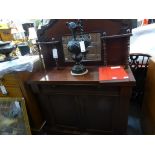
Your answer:
[[[133,88],[131,102],[142,104],[144,96],[145,79],[150,59],[149,54],[143,53],[130,53],[129,66],[136,79],[136,86]]]

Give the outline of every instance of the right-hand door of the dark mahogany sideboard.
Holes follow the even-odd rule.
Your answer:
[[[80,102],[86,130],[113,131],[113,122],[119,109],[118,96],[85,95],[80,96]]]

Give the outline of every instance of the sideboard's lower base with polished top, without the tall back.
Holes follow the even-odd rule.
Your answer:
[[[72,76],[71,67],[33,74],[28,80],[39,100],[49,134],[126,134],[135,79],[99,81],[98,67]]]

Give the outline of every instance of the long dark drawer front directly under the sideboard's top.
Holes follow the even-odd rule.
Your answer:
[[[76,94],[76,95],[106,95],[119,96],[120,87],[107,87],[97,85],[38,85],[38,91],[43,94]]]

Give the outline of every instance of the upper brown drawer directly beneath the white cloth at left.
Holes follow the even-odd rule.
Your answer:
[[[4,86],[18,86],[19,80],[14,74],[7,74],[0,78],[0,82]]]

